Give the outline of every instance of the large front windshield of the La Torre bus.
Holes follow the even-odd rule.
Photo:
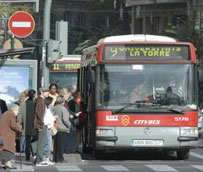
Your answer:
[[[164,106],[196,105],[193,64],[103,64],[97,78],[100,109],[143,100]]]

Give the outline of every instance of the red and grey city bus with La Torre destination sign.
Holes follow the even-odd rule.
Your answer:
[[[198,64],[191,43],[120,35],[83,50],[84,152],[158,150],[187,159],[198,145]]]

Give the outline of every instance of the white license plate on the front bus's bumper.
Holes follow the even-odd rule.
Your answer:
[[[163,146],[163,140],[132,140],[132,146]]]

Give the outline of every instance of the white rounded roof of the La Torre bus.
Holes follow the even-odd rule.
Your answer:
[[[145,35],[145,34],[135,34],[135,35],[120,35],[120,36],[110,36],[98,41],[98,44],[108,43],[108,42],[176,42],[174,38],[167,36],[158,35]]]

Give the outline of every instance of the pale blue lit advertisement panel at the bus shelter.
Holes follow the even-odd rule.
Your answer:
[[[18,102],[19,94],[27,89],[37,89],[37,61],[0,61],[0,99],[7,106]]]

